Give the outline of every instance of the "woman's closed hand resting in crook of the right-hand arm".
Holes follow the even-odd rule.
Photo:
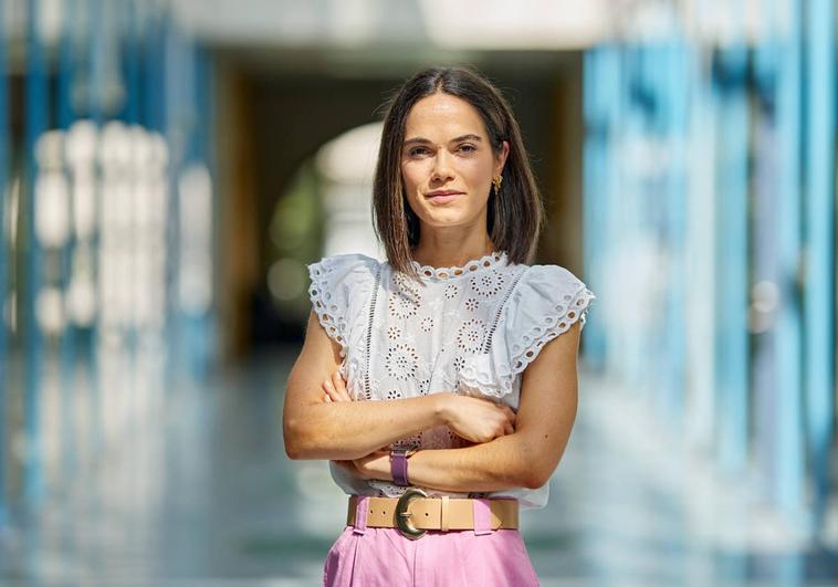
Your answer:
[[[446,423],[467,441],[481,443],[515,431],[515,412],[488,398],[451,394],[443,405]]]

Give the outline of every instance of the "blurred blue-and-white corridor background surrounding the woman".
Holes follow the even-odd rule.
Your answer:
[[[838,585],[836,3],[0,0],[0,585],[317,585],[306,263],[473,65],[597,295],[544,585]]]

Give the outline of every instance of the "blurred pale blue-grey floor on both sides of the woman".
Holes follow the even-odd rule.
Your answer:
[[[284,455],[292,353],[178,386],[92,480],[0,536],[0,585],[317,585],[345,500],[325,462]],[[521,516],[543,585],[838,585],[835,544],[807,547],[630,398],[583,376],[549,504]]]

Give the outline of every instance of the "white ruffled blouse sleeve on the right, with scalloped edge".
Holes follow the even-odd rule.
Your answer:
[[[596,295],[559,265],[533,265],[521,276],[503,307],[488,353],[460,370],[460,389],[496,398],[520,390],[517,377],[542,347],[585,319]],[[515,401],[516,403],[516,398]]]

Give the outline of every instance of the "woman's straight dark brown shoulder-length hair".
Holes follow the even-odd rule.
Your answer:
[[[373,182],[373,218],[390,266],[418,279],[410,260],[419,243],[419,218],[410,209],[401,182],[401,144],[410,108],[438,92],[462,98],[476,108],[495,157],[503,141],[509,141],[500,191],[495,196],[492,187],[489,197],[486,232],[496,250],[506,251],[510,263],[528,264],[535,255],[545,214],[521,129],[501,91],[478,71],[460,66],[420,71],[384,105],[384,130]]]

